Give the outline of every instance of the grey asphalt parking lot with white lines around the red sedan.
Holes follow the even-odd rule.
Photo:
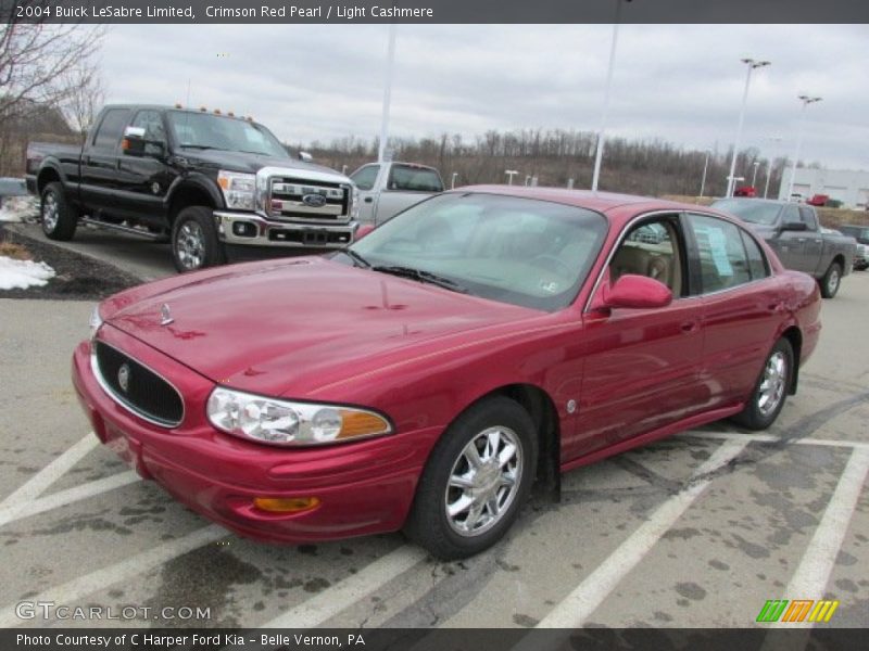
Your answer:
[[[768,432],[715,423],[574,471],[561,503],[444,563],[400,534],[279,547],[202,520],[89,432],[68,372],[92,305],[0,299],[0,626],[118,625],[21,605],[52,602],[141,626],[746,627],[767,600],[827,598],[840,605],[818,626],[862,627],[867,304],[869,273],[824,301]]]

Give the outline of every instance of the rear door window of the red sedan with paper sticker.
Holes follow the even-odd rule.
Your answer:
[[[697,245],[703,293],[720,292],[752,280],[741,229],[706,215],[689,215]]]

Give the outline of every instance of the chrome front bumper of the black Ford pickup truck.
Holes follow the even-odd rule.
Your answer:
[[[299,224],[270,221],[255,213],[215,210],[214,221],[222,242],[242,246],[281,246],[312,250],[343,248],[353,242],[357,221],[348,224]]]

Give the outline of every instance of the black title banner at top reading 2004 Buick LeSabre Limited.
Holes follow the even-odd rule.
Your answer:
[[[869,23],[866,0],[0,0],[4,23]],[[820,27],[819,27],[820,28]]]

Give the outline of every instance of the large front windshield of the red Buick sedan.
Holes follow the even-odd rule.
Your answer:
[[[584,208],[451,193],[408,208],[335,259],[554,311],[576,297],[605,233],[603,216]]]

